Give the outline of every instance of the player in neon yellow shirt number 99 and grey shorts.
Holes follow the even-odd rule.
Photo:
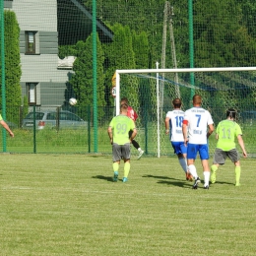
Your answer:
[[[128,104],[121,104],[120,114],[113,117],[109,123],[107,133],[112,145],[113,155],[113,170],[114,176],[113,181],[118,180],[118,171],[120,166],[120,160],[124,160],[124,175],[123,182],[128,181],[128,174],[130,171],[130,159],[131,159],[131,148],[130,144],[137,135],[134,121],[127,116]],[[132,131],[129,136],[129,131]]]

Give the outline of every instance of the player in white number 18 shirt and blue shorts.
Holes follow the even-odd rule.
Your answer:
[[[186,179],[192,181],[193,176],[187,169],[187,147],[184,144],[182,134],[184,111],[181,110],[181,104],[181,99],[178,97],[172,100],[173,110],[168,111],[165,116],[165,134],[169,135],[169,140],[174,150],[174,154],[178,157],[179,164],[185,172]]]

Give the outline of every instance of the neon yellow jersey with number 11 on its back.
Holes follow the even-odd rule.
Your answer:
[[[219,135],[217,148],[223,151],[235,149],[235,137],[242,135],[241,127],[232,120],[221,121],[217,126],[216,133]]]

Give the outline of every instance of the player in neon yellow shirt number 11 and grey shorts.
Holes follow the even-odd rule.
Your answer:
[[[216,171],[219,165],[223,165],[226,157],[228,157],[234,163],[235,186],[240,186],[241,166],[239,154],[235,147],[235,137],[237,138],[244,158],[247,158],[247,153],[244,148],[241,127],[234,121],[235,118],[235,109],[229,108],[226,111],[226,119],[221,121],[217,126],[216,139],[218,142],[215,150],[213,165],[211,166],[211,183],[216,182]]]

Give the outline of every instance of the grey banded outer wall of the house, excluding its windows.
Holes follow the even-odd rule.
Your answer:
[[[62,105],[70,70],[58,69],[58,32],[56,0],[14,0],[12,5],[20,26],[22,94],[26,83],[36,83],[40,105]],[[35,54],[26,54],[25,32],[36,32]]]

